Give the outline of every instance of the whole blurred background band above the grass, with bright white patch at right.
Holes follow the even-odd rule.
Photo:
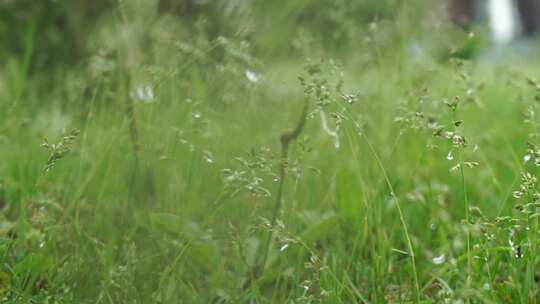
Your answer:
[[[184,52],[191,48],[211,59],[223,55],[223,45],[197,50],[201,37],[238,42],[262,61],[340,56],[374,43],[382,52],[470,58],[495,45],[526,48],[538,32],[539,6],[536,0],[3,0],[0,77],[6,90],[6,83],[22,85],[19,66],[27,73],[22,78],[45,73],[50,79],[69,67],[92,69],[96,60],[115,63],[118,56],[155,63],[158,52],[141,49],[157,47],[156,39],[167,35],[182,41]],[[460,31],[475,37],[465,39]]]

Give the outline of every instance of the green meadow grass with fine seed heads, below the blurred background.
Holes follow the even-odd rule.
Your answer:
[[[2,302],[540,299],[538,62],[384,22],[335,61],[258,58],[140,18],[3,70]]]

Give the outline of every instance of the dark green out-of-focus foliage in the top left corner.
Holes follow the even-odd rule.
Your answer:
[[[111,8],[106,0],[1,1],[0,61],[27,52],[31,39],[34,69],[74,63],[84,53],[90,28]]]

